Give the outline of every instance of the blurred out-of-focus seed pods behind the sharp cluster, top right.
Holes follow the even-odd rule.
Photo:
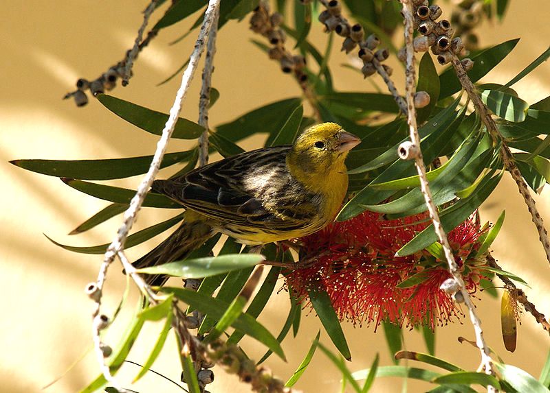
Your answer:
[[[479,40],[474,33],[474,27],[483,20],[485,8],[483,0],[464,0],[459,2],[451,14],[451,22],[456,27],[456,33],[464,38],[464,46],[468,51],[478,49]]]

